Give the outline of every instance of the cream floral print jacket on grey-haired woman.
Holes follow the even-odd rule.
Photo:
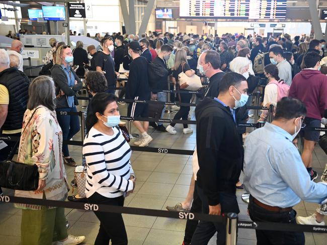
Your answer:
[[[31,118],[34,110],[37,110]],[[58,124],[56,112],[40,105],[35,109],[27,109],[23,119],[18,162],[36,164],[39,167],[39,179],[46,180],[42,191],[15,191],[15,196],[30,198],[46,198],[49,200],[65,200],[67,197],[66,171],[61,153],[62,132]],[[39,205],[15,204],[25,209],[41,209]]]

